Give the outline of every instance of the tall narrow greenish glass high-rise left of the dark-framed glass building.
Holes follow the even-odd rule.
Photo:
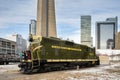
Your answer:
[[[91,16],[81,16],[81,44],[89,47],[91,44]]]

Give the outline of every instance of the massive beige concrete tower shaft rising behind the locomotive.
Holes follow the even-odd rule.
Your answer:
[[[38,0],[36,35],[57,37],[54,0]]]

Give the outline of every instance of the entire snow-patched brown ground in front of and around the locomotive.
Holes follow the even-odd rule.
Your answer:
[[[17,65],[0,65],[0,80],[120,80],[120,63],[30,75],[20,73]]]

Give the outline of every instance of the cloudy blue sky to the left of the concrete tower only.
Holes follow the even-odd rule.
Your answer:
[[[27,39],[29,23],[36,19],[37,0],[0,0],[0,37],[21,34]]]

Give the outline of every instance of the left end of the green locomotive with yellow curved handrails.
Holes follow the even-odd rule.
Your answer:
[[[38,57],[38,51],[41,48],[40,45],[41,37],[39,36],[29,36],[29,49],[22,52],[22,60],[18,65],[21,68],[22,73],[31,73],[34,68],[40,66]],[[37,44],[36,44],[37,43]]]

